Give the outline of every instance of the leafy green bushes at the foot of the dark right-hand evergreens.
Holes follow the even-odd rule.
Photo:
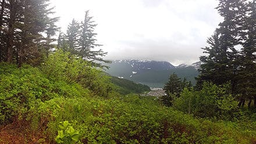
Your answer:
[[[232,118],[238,109],[228,84],[217,86],[205,82],[200,91],[185,88],[179,98],[173,101],[173,107],[199,117]]]

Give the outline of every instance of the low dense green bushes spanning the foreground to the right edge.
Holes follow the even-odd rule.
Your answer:
[[[33,129],[54,142],[69,121],[83,143],[251,143],[256,125],[212,123],[158,105],[154,98],[55,98],[30,110]]]

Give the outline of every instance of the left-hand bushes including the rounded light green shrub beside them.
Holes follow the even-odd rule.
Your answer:
[[[56,52],[42,67],[0,63],[0,124],[27,113],[35,101],[108,96],[112,84],[101,71],[69,53]]]

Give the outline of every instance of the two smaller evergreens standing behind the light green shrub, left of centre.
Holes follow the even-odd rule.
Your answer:
[[[95,26],[97,24],[93,21],[93,17],[89,16],[89,11],[87,10],[84,21],[79,23],[73,19],[69,26],[67,26],[66,34],[59,33],[57,48],[80,56],[90,61],[93,66],[105,67],[99,61],[105,63],[110,63],[110,61],[102,59],[102,56],[105,56],[107,53],[98,48],[98,46],[102,45],[97,44],[97,39],[95,39],[97,35],[94,33]]]

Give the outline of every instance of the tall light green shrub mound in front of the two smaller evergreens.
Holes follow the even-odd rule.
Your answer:
[[[49,55],[41,69],[49,80],[78,83],[90,89],[93,95],[108,96],[112,91],[112,84],[106,74],[92,68],[86,60],[61,50]]]

